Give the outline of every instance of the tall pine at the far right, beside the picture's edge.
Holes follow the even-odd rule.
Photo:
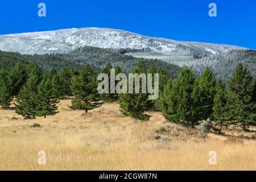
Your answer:
[[[238,64],[228,82],[228,119],[246,125],[255,123],[254,81],[246,67]],[[254,121],[253,121],[254,120]]]

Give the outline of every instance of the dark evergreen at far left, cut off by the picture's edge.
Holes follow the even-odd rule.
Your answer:
[[[7,72],[0,70],[0,105],[3,109],[7,109],[10,106],[11,100],[13,100],[12,89]]]

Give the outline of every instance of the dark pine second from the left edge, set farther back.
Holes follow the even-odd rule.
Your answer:
[[[18,96],[23,85],[27,81],[26,70],[23,65],[18,62],[9,74],[10,86],[12,88],[12,95]]]

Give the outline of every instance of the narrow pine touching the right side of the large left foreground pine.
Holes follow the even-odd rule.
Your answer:
[[[55,115],[59,113],[57,105],[59,101],[52,97],[51,75],[45,73],[42,82],[38,85],[37,95],[38,105],[36,106],[36,116],[46,118],[47,115]]]

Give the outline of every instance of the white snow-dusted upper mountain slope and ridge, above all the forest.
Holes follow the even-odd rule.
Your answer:
[[[163,59],[168,59],[165,56],[172,55],[191,56],[193,53],[213,55],[231,50],[245,49],[220,44],[178,42],[170,39],[150,38],[109,28],[72,28],[0,35],[0,50],[22,54],[63,53],[84,46],[113,49],[147,49],[148,52],[151,52],[151,55],[144,56],[154,57],[154,53],[156,53],[156,57],[163,56]],[[134,56],[140,55],[135,54]]]

